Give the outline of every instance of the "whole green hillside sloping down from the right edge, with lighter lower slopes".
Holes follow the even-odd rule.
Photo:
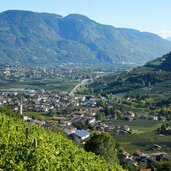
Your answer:
[[[99,78],[90,85],[96,94],[141,115],[171,119],[171,53],[120,75]]]

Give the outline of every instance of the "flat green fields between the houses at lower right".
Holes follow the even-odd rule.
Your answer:
[[[171,124],[171,121],[167,123]],[[158,144],[162,146],[159,151],[165,151],[171,156],[171,136],[158,135],[156,133],[156,129],[163,124],[162,122],[138,119],[132,122],[114,120],[109,124],[128,125],[132,129],[132,134],[113,136],[122,149],[130,153],[138,150],[152,153],[158,151],[147,149],[146,145]]]

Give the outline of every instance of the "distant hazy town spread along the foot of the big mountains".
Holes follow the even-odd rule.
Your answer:
[[[71,65],[47,66],[12,66],[0,65],[0,78],[23,79],[23,78],[69,78],[70,80],[82,80],[90,75],[97,75],[94,71]]]

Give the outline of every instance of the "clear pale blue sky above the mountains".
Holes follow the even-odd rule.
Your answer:
[[[0,12],[13,9],[77,13],[101,24],[171,37],[171,0],[0,0]]]

